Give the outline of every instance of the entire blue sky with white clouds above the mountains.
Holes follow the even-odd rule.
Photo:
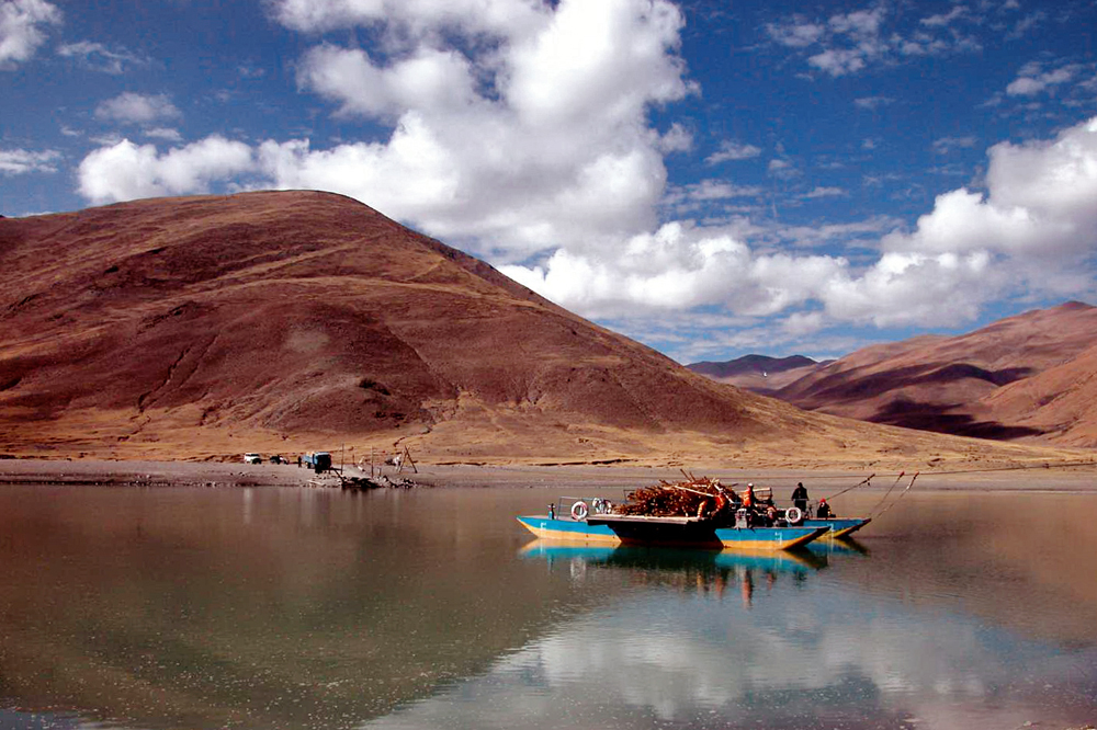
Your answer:
[[[1097,7],[0,0],[0,213],[351,195],[680,362],[1097,303]]]

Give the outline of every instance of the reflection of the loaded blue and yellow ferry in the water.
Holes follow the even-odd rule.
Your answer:
[[[713,594],[723,598],[737,591],[746,607],[753,604],[756,588],[771,589],[782,577],[803,581],[827,567],[827,552],[781,550],[756,552],[734,550],[690,550],[660,547],[591,547],[562,545],[556,540],[534,540],[519,555],[543,559],[550,571],[566,570],[575,581],[596,580],[597,570],[626,571],[633,586],[677,589],[679,592]],[[824,546],[825,547],[825,546]]]

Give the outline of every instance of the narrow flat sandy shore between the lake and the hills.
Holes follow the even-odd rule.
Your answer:
[[[361,474],[361,472],[354,472]],[[391,466],[383,474],[389,478],[407,477],[428,487],[506,487],[516,489],[631,489],[659,479],[678,481],[682,472],[672,467],[627,466],[466,466],[418,465],[418,472],[405,468],[397,475]],[[810,488],[840,489],[853,486],[868,472],[825,469],[719,469],[693,470],[697,476],[719,477],[724,483],[753,481],[771,486],[781,493],[798,481]],[[912,475],[901,480],[906,486]],[[93,459],[41,460],[0,459],[0,484],[71,484],[138,487],[303,487],[315,475],[296,465],[225,464],[193,461],[108,461]],[[897,472],[877,474],[871,487],[887,489]],[[333,481],[333,480],[332,480]],[[968,471],[961,474],[921,474],[919,490],[1032,490],[1054,492],[1097,492],[1097,466],[1072,468],[1028,468],[1014,470]]]

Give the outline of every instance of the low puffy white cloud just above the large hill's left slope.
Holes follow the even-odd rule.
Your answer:
[[[208,192],[212,181],[249,172],[251,149],[219,136],[160,155],[152,145],[124,139],[80,163],[80,193],[94,203]]]

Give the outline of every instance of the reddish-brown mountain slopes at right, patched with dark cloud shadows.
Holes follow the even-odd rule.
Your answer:
[[[960,337],[864,347],[773,395],[877,423],[1097,446],[1084,387],[1095,332],[1097,308],[1071,301]]]

